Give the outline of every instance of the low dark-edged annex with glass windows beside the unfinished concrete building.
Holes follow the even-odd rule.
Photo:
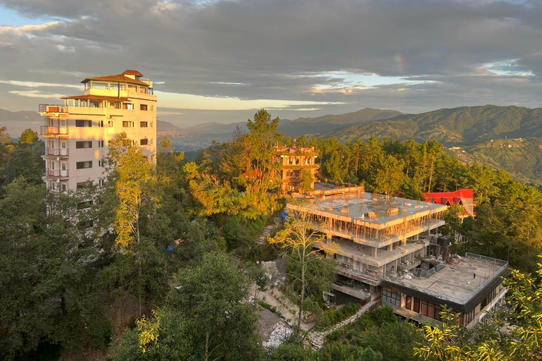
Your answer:
[[[426,324],[438,324],[445,305],[471,327],[504,300],[501,283],[509,274],[508,262],[467,252],[429,269],[384,277],[382,300],[397,314]]]

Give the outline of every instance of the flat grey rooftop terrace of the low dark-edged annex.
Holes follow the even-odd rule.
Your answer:
[[[454,259],[428,277],[391,274],[383,279],[383,286],[399,288],[407,294],[423,293],[433,298],[437,305],[445,303],[462,312],[470,312],[480,300],[476,295],[484,289],[494,289],[507,276],[508,262],[469,252],[461,259]]]

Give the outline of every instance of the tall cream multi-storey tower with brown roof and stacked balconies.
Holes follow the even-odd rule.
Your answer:
[[[61,98],[62,105],[40,104],[48,188],[75,190],[88,181],[99,183],[109,141],[122,132],[155,161],[156,96],[152,81],[142,76],[128,70],[86,78],[83,95]]]

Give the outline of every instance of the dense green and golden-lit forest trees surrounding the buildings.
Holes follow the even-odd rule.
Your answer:
[[[248,133],[215,143],[197,161],[186,161],[164,138],[156,166],[121,133],[103,159],[104,185],[69,192],[44,187],[43,145],[36,133],[25,131],[12,144],[0,128],[1,360],[83,353],[123,361],[450,360],[447,355],[461,350],[462,360],[471,361],[486,349],[513,355],[524,348],[540,355],[537,338],[514,334],[491,348],[494,332],[480,338],[461,328],[457,336],[446,331],[463,340],[449,350],[442,337],[425,338],[389,307],[362,317],[344,335],[330,334],[318,351],[304,346],[305,334],[296,328],[285,345],[263,348],[258,307],[269,305],[250,302],[267,279],[258,262],[283,255],[284,294],[295,312],[316,320],[333,314],[325,311],[322,293],[336,273],[328,257],[298,257],[295,240],[280,249],[256,242],[287,200],[279,192],[275,145],[293,140],[278,126],[279,119],[262,109],[248,121]],[[416,200],[425,191],[474,188],[476,219],[461,224],[452,209],[441,228],[466,235],[456,251],[536,270],[542,193],[506,171],[464,165],[436,141],[372,137],[343,145],[334,138],[300,137],[297,145],[315,146],[323,177],[364,183],[368,191]],[[290,222],[272,243],[291,239]],[[303,246],[309,251],[310,242]],[[306,273],[299,266],[304,256],[311,262]],[[512,332],[542,332],[536,324],[541,297],[531,294],[538,292],[533,282],[519,273],[510,281],[510,302],[522,312],[512,322],[524,326]],[[514,315],[508,314],[509,322]]]

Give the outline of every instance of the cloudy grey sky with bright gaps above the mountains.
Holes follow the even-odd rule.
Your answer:
[[[0,0],[0,109],[136,69],[177,126],[542,99],[542,0]]]

